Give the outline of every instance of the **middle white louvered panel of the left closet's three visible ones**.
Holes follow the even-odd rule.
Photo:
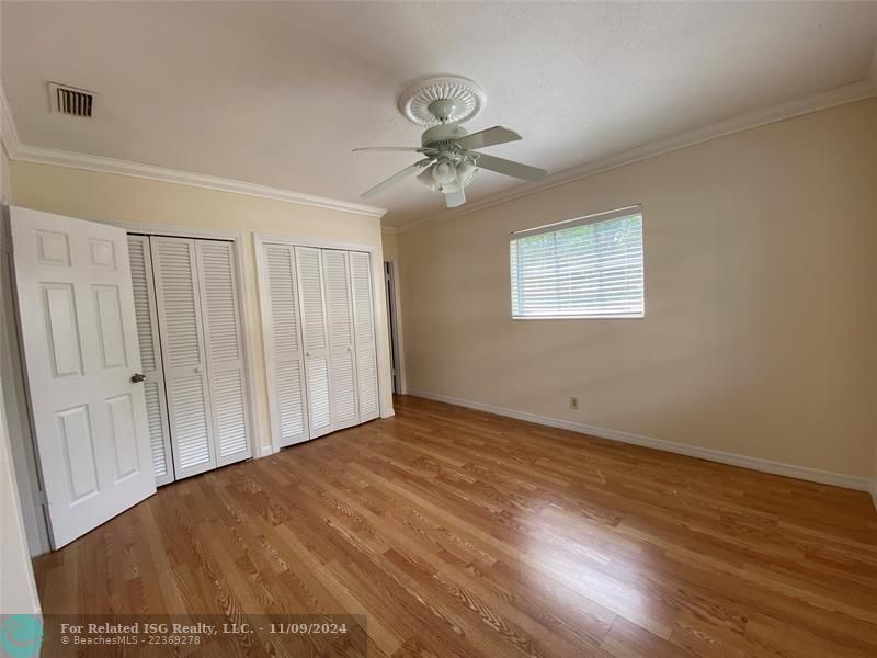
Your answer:
[[[216,467],[195,240],[150,237],[176,479]]]

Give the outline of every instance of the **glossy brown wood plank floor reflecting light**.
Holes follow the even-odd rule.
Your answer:
[[[867,494],[412,397],[35,570],[46,613],[364,614],[372,658],[877,656]]]

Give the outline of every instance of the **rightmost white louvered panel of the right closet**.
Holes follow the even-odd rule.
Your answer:
[[[364,251],[350,252],[353,291],[354,350],[360,400],[360,422],[380,416],[377,392],[377,349],[375,348],[375,299],[372,287],[372,259]]]

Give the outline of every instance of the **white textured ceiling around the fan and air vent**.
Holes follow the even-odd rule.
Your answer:
[[[868,73],[877,4],[4,2],[3,81],[31,146],[361,202],[412,161],[396,110],[412,79],[488,92],[467,128],[556,172]],[[91,121],[46,82],[100,93]],[[479,172],[471,200],[520,184]],[[442,208],[415,180],[372,201],[400,224]]]

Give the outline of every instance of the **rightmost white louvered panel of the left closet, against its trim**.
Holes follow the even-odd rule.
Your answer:
[[[196,240],[217,466],[251,455],[237,266],[231,243]]]

